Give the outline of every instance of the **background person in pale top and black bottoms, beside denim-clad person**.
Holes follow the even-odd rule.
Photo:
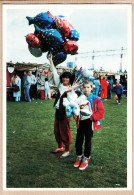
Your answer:
[[[28,73],[31,79],[31,86],[30,86],[29,94],[30,94],[30,98],[34,100],[37,95],[37,86],[36,86],[37,80],[36,80],[35,75],[32,74],[31,70]]]

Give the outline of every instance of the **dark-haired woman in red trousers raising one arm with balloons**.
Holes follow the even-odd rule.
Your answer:
[[[48,56],[50,62],[51,71],[53,74],[53,79],[55,85],[59,89],[57,98],[55,99],[54,106],[56,107],[55,121],[54,121],[54,134],[55,139],[58,143],[58,148],[53,151],[53,153],[63,152],[63,144],[65,145],[65,151],[60,156],[60,158],[66,158],[70,155],[70,145],[71,145],[71,132],[70,132],[70,118],[66,115],[65,107],[63,106],[63,98],[67,97],[67,92],[72,95],[75,93],[71,85],[74,82],[75,75],[70,72],[64,72],[60,77],[57,74],[56,68],[53,63],[52,54]]]

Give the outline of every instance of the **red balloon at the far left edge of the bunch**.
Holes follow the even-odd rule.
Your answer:
[[[26,36],[26,41],[27,43],[34,48],[39,48],[41,47],[41,42],[38,39],[38,37],[36,37],[34,34],[30,33]]]

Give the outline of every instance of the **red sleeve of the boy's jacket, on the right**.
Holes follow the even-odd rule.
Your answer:
[[[91,115],[90,119],[93,120],[93,121],[99,121],[99,120],[101,120],[101,119],[103,118],[104,112],[105,112],[104,106],[103,106],[102,101],[100,100],[100,101],[97,103],[97,111],[94,112],[94,113]]]

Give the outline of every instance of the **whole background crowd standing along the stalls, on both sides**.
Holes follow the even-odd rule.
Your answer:
[[[113,80],[112,76],[99,76],[92,80],[93,82],[93,94],[104,98],[104,100],[111,99],[112,92],[117,94],[117,103],[120,103],[120,95],[125,92],[127,97],[127,79]],[[31,102],[31,100],[39,97],[37,90],[37,77],[31,70],[24,71],[22,79],[15,72],[11,78],[11,87],[13,87],[13,98],[15,102],[24,100]],[[48,78],[44,79],[44,99],[51,99],[50,84]],[[119,86],[121,85],[121,86]],[[121,88],[121,90],[118,90]],[[119,102],[118,102],[119,101]]]

